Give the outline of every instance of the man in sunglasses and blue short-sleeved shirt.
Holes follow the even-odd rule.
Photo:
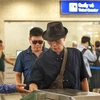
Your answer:
[[[44,46],[42,33],[43,30],[39,27],[34,27],[30,30],[30,46],[18,55],[15,62],[14,71],[16,72],[16,84],[22,83],[22,73],[24,75],[24,84],[28,84],[31,67],[35,60],[47,50]],[[25,89],[28,89],[28,86],[26,86]]]

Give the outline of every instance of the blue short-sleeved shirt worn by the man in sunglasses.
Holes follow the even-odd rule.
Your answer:
[[[44,48],[44,51],[45,50],[46,48]],[[23,72],[25,84],[28,84],[30,69],[36,59],[37,56],[31,51],[31,47],[29,47],[27,50],[22,51],[16,59],[14,71],[21,73]]]

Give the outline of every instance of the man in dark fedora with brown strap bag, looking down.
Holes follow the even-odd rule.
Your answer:
[[[63,27],[59,21],[47,24],[47,30],[43,33],[43,39],[48,42],[50,48],[34,63],[29,79],[31,91],[48,88],[89,91],[88,74],[81,52],[75,48],[65,48],[63,45],[67,33],[68,29]],[[65,50],[67,50],[66,59]],[[65,67],[62,66],[64,59],[66,62],[64,64]],[[59,79],[57,79],[58,77]],[[58,85],[59,83],[60,85]],[[54,85],[55,87],[52,87]]]

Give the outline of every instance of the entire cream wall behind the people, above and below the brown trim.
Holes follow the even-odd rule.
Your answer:
[[[100,40],[100,15],[61,15],[60,0],[0,0],[0,39],[5,54],[16,56],[16,50],[26,49],[29,30],[34,26],[45,30],[49,21],[62,21],[68,28],[66,46],[71,47],[73,40],[80,44],[84,34],[91,36],[92,43]]]

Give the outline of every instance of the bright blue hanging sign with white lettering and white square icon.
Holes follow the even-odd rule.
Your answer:
[[[100,14],[99,1],[61,1],[61,14]]]

